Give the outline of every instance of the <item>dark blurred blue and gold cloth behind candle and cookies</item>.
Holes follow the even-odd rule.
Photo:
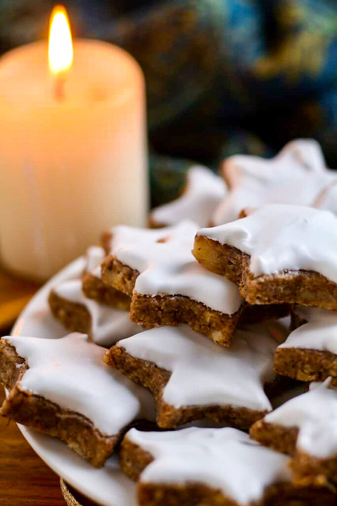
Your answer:
[[[337,167],[336,0],[64,5],[75,36],[125,48],[145,73],[153,205],[178,194],[191,160],[216,168],[296,137],[316,138]],[[0,0],[1,51],[46,37],[52,7]]]

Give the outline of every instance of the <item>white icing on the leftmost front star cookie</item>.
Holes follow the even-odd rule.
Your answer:
[[[154,419],[153,396],[106,365],[106,350],[89,343],[85,334],[4,339],[29,365],[21,390],[83,414],[103,434],[117,434],[135,418]]]

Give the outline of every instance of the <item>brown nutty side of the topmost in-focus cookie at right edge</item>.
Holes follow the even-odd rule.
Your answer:
[[[195,258],[207,269],[238,284],[249,304],[302,304],[337,309],[337,284],[314,271],[280,271],[255,276],[250,256],[204,236],[196,236]]]

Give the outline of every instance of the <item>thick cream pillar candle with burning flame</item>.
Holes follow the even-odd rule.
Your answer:
[[[102,230],[145,225],[148,200],[141,69],[98,40],[72,48],[64,9],[53,20],[49,47],[39,41],[0,59],[2,263],[38,279]]]

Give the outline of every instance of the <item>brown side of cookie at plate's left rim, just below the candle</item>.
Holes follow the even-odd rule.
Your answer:
[[[68,330],[88,334],[92,339],[91,316],[85,306],[60,297],[54,290],[49,294],[48,303],[53,316]]]

